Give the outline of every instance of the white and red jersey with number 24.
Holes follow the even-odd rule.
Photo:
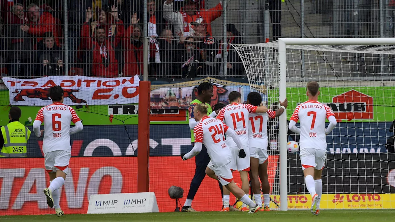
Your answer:
[[[231,160],[231,152],[225,143],[225,132],[228,130],[221,120],[205,116],[194,128],[195,143],[205,145],[214,166],[224,166]]]

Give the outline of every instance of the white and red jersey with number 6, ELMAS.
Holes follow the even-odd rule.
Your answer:
[[[63,103],[53,103],[38,111],[36,120],[44,122],[43,152],[71,152],[70,122],[80,121],[75,110]]]

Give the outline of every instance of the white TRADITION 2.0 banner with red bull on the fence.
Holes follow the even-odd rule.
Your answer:
[[[59,85],[66,105],[111,105],[139,102],[139,77],[101,78],[48,76],[37,79],[3,77],[11,105],[45,106],[52,103],[48,89]]]

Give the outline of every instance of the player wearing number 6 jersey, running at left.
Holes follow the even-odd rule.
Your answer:
[[[49,187],[44,189],[49,207],[55,207],[57,216],[64,213],[59,205],[59,188],[64,184],[71,157],[70,134],[83,129],[83,125],[75,110],[62,102],[63,89],[60,86],[49,88],[52,104],[38,111],[33,122],[34,134],[43,138],[43,152],[45,169],[49,173]],[[70,128],[70,122],[75,127]],[[41,123],[44,130],[40,130]]]

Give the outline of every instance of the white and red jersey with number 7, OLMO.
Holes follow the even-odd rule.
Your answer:
[[[300,149],[314,148],[326,151],[325,119],[335,116],[329,106],[308,100],[298,105],[291,120],[300,121]]]

